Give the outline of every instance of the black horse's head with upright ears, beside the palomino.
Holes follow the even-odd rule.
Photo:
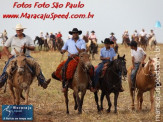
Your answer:
[[[120,57],[118,55],[116,61],[116,69],[122,73],[123,76],[127,75],[127,69],[126,69],[126,59],[125,55],[123,57]]]

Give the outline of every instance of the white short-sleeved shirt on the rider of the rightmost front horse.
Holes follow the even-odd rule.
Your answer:
[[[137,50],[131,50],[131,56],[134,57],[134,63],[140,63],[146,53],[141,47],[138,47]]]

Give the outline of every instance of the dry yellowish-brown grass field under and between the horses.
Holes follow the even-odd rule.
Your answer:
[[[163,45],[161,46],[161,51],[163,51]],[[119,54],[126,55],[127,67],[131,65],[130,49],[120,46]],[[153,51],[147,51],[147,55],[154,57],[155,53]],[[60,63],[61,54],[59,52],[40,52],[32,53],[32,56],[41,65],[43,74],[46,78],[51,77],[51,73],[56,69]],[[64,59],[66,59],[66,54]],[[93,65],[97,65],[99,60],[99,54],[95,56],[96,60],[92,61]],[[4,67],[4,60],[0,60],[0,69]],[[161,62],[163,56],[161,55]],[[161,67],[163,65],[161,64]],[[161,69],[162,70],[162,69]],[[163,72],[161,72],[163,76]],[[162,78],[162,77],[161,77]],[[150,113],[150,101],[149,93],[144,94],[143,110],[141,112],[131,111],[131,98],[129,94],[129,88],[127,81],[123,82],[123,87],[125,91],[120,93],[118,98],[118,113],[114,114],[112,107],[111,113],[107,113],[107,102],[104,99],[104,111],[97,113],[96,104],[94,101],[94,95],[90,91],[87,91],[83,104],[83,114],[78,115],[74,108],[74,100],[72,95],[72,90],[69,90],[69,110],[70,114],[66,114],[66,107],[64,103],[64,96],[61,92],[61,82],[52,79],[49,87],[46,90],[38,87],[38,82],[35,80],[31,85],[29,103],[34,106],[34,122],[54,122],[54,121],[111,121],[111,122],[152,122],[155,121],[155,113]],[[4,88],[3,88],[4,89]],[[3,93],[3,89],[0,89],[0,106],[2,104],[12,104],[9,90],[7,93]],[[161,93],[163,90],[161,89]],[[111,101],[113,102],[113,95],[111,95]],[[1,121],[1,110],[0,110],[0,121]],[[163,99],[161,98],[161,113],[163,113]],[[162,116],[163,118],[163,116]],[[163,121],[163,119],[162,119]]]

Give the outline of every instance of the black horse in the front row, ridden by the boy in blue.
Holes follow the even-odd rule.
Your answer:
[[[127,75],[125,55],[123,57],[118,55],[117,59],[110,62],[107,66],[104,76],[99,79],[97,88],[101,89],[102,91],[100,100],[101,106],[98,104],[98,92],[94,93],[98,112],[103,110],[104,96],[106,96],[108,101],[109,108],[107,109],[107,112],[110,112],[112,106],[110,101],[110,94],[114,93],[114,113],[117,113],[117,100],[119,96],[119,89],[121,88],[121,76],[119,75],[120,72],[124,77]]]

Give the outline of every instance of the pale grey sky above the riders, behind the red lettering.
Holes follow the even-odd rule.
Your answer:
[[[156,21],[163,24],[163,0],[80,0],[85,6],[84,8],[13,8],[14,2],[33,4],[59,2],[66,4],[67,2],[78,3],[79,0],[0,0],[0,33],[4,29],[7,30],[8,36],[15,35],[15,26],[21,23],[27,29],[24,33],[35,38],[40,32],[56,33],[61,31],[63,40],[68,38],[68,32],[73,28],[82,30],[82,34],[87,31],[94,30],[98,38],[98,42],[110,37],[110,33],[114,32],[118,39],[118,43],[122,42],[122,34],[125,30],[129,34],[133,34],[134,30],[138,32],[144,28],[147,33],[151,29],[156,34],[158,42],[163,43],[163,28],[156,28]],[[93,19],[3,19],[3,14],[21,14],[28,13],[85,13],[94,14]],[[82,36],[80,36],[82,38]]]

